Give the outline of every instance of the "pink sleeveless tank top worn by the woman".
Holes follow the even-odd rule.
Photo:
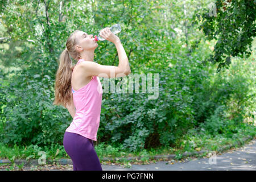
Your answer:
[[[81,61],[85,60],[80,59],[77,64]],[[100,78],[93,76],[92,80],[79,90],[72,88],[72,93],[76,114],[66,131],[97,141],[102,101]]]

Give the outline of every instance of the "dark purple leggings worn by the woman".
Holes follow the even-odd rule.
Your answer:
[[[66,131],[63,146],[72,159],[74,171],[102,171],[93,140]]]

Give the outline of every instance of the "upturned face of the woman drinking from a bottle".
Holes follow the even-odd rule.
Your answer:
[[[92,34],[86,34],[86,32],[80,31],[77,32],[77,49],[79,51],[89,51],[89,50],[94,50],[98,47],[97,42],[94,40],[94,37]]]

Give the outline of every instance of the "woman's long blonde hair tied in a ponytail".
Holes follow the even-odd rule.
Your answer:
[[[76,51],[75,46],[78,44],[76,34],[80,30],[74,31],[66,42],[66,48],[61,53],[59,59],[59,68],[55,78],[55,100],[53,105],[71,105],[73,94],[71,91],[71,76],[73,72],[71,56],[75,60],[81,59],[80,53]]]

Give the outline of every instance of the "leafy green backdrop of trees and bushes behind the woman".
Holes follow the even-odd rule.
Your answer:
[[[101,28],[114,23],[122,26],[118,36],[129,57],[132,73],[159,73],[159,97],[148,100],[149,93],[104,93],[97,135],[100,154],[105,152],[101,143],[109,146],[105,152],[108,154],[117,154],[118,150],[138,152],[179,146],[180,138],[199,127],[208,134],[234,136],[243,118],[254,116],[253,56],[246,61],[228,58],[230,69],[216,75],[213,71],[216,68],[203,61],[211,54],[211,43],[193,24],[193,14],[199,6],[195,2],[112,1],[114,5],[106,1],[61,2],[61,10],[60,1],[44,4],[19,0],[4,5],[0,36],[10,39],[0,43],[3,65],[0,69],[0,138],[3,143],[37,146],[33,149],[36,151],[47,147],[51,156],[64,154],[60,146],[72,117],[64,107],[52,105],[59,55],[71,32],[79,29],[97,35]],[[243,9],[239,11],[245,13]],[[209,26],[205,23],[204,27],[215,31],[211,28],[215,28],[216,23]],[[228,34],[227,30],[219,33]],[[249,33],[245,38],[243,47],[250,42]],[[107,41],[98,44],[94,60],[104,65],[118,65],[114,45]],[[229,41],[227,45],[236,43]],[[241,51],[245,49],[241,47]],[[115,84],[119,80],[116,78]],[[227,124],[230,120],[234,125]],[[193,147],[191,142],[181,144],[185,150]],[[28,156],[35,158],[35,155]],[[143,160],[148,159],[146,152],[142,155]],[[177,158],[180,158],[178,153]]]

